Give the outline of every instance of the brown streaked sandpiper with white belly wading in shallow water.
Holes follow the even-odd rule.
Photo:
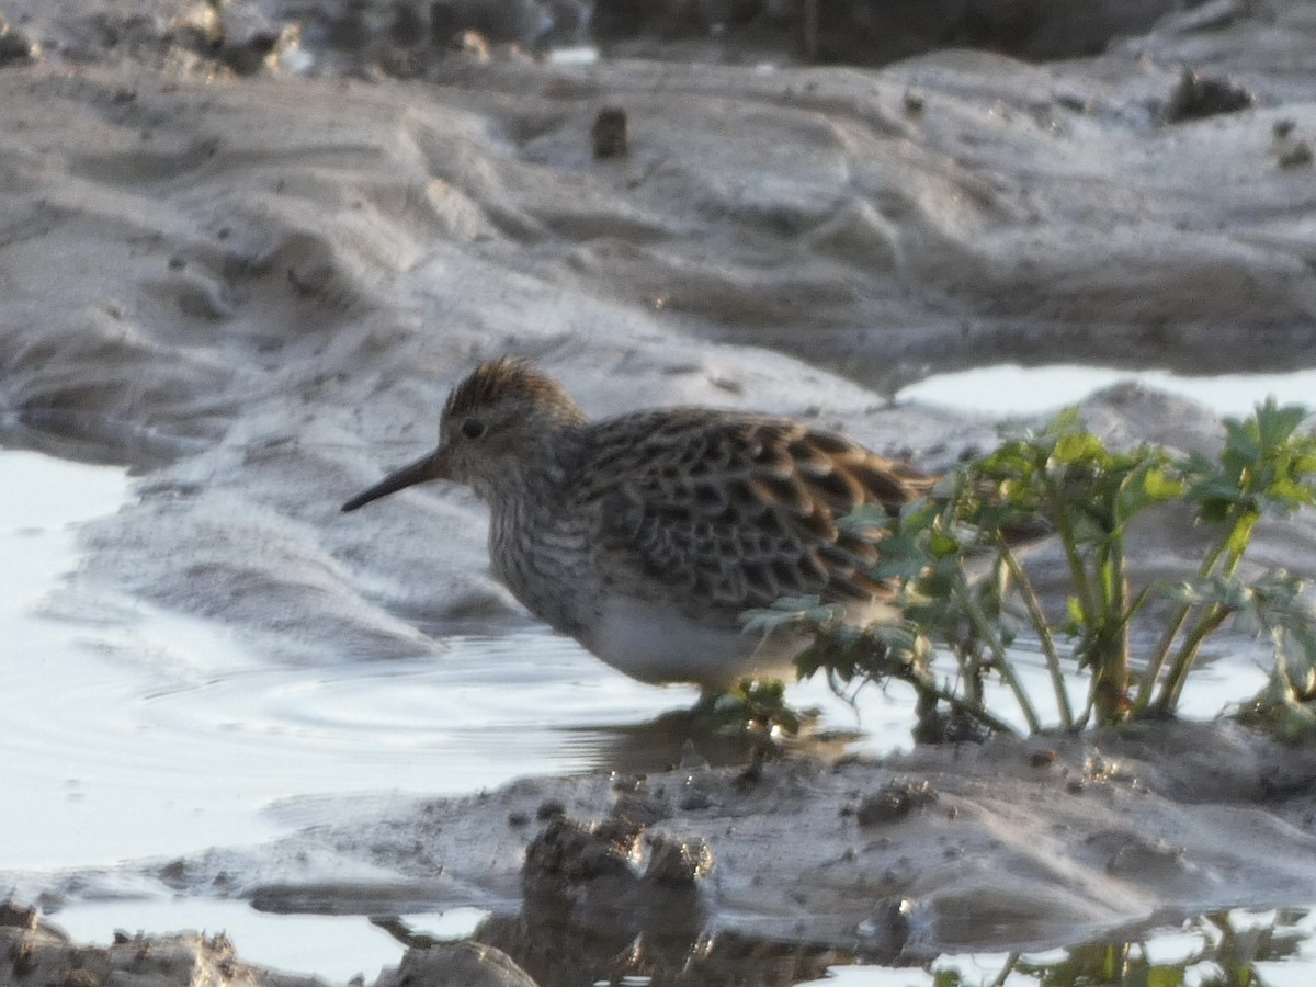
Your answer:
[[[657,408],[591,421],[534,363],[504,355],[450,392],[437,447],[342,505],[432,480],[488,504],[494,575],[554,630],[619,671],[717,695],[794,678],[807,645],[742,615],[782,597],[890,612],[871,575],[888,515],[936,475],[790,417]]]

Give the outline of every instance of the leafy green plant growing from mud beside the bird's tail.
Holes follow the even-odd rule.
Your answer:
[[[1257,522],[1316,504],[1316,437],[1299,433],[1302,408],[1258,405],[1225,421],[1215,458],[1171,457],[1149,445],[1112,450],[1076,409],[1040,430],[1015,430],[1000,446],[950,472],[926,499],[899,517],[865,509],[846,524],[879,529],[882,557],[874,575],[900,587],[900,619],[866,628],[848,625],[838,608],[816,600],[783,600],[750,615],[755,626],[791,624],[813,634],[801,655],[803,675],[822,671],[842,695],[871,680],[899,679],[919,694],[920,730],[936,734],[940,704],[1003,729],[987,709],[984,676],[1009,688],[1030,732],[1044,728],[1020,682],[1009,647],[1020,634],[1044,654],[1062,728],[1095,715],[1101,722],[1170,716],[1203,642],[1230,619],[1267,633],[1275,645],[1273,703],[1288,709],[1290,726],[1316,694],[1316,633],[1303,583],[1286,572],[1245,580],[1240,565]],[[1134,590],[1128,576],[1130,525],[1152,508],[1191,512],[1207,532],[1195,576],[1179,584]],[[1021,562],[1021,540],[1046,530],[1058,540],[1071,594],[1063,612],[1048,612]],[[1130,626],[1152,600],[1170,600],[1171,616],[1141,674],[1133,674]],[[942,650],[958,669],[938,684],[930,655]],[[1078,713],[1065,663],[1088,672]]]

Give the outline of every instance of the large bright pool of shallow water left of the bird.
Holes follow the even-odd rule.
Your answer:
[[[450,638],[440,662],[325,655],[308,671],[136,600],[84,608],[59,592],[76,566],[71,525],[113,511],[128,479],[33,453],[0,463],[12,642],[0,783],[29,794],[0,808],[13,813],[0,817],[7,869],[259,840],[279,829],[263,809],[304,795],[451,795],[580,771],[605,757],[609,724],[692,701],[600,674],[542,630]]]

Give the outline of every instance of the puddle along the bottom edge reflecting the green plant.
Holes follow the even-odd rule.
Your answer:
[[[528,908],[492,916],[471,938],[507,953],[544,987],[638,982],[787,987],[1278,987],[1311,983],[1316,912],[1233,909],[1159,924],[1126,940],[1103,940],[1041,955],[898,959],[874,951],[757,940],[733,933],[569,928],[562,912]],[[397,919],[376,919],[403,945],[434,940]]]

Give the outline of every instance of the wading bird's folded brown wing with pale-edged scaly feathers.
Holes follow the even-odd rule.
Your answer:
[[[728,611],[888,595],[867,575],[873,537],[837,520],[861,504],[899,511],[934,482],[787,418],[678,409],[594,432],[576,495],[597,505],[595,571]]]

